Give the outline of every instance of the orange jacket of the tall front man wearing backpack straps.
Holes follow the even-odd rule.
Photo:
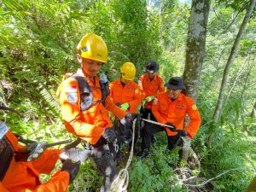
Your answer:
[[[78,73],[84,76],[80,69]],[[97,77],[94,77],[94,80],[88,76],[86,78],[90,86],[100,87]],[[91,90],[94,101],[102,99],[102,90],[96,88],[91,88]],[[57,96],[60,99],[62,119],[67,131],[90,144],[96,144],[102,137],[105,128],[112,127],[108,111],[119,119],[125,117],[125,111],[115,106],[110,96],[106,99],[105,107],[102,102],[96,102],[82,113],[80,111],[79,84],[72,77],[61,83],[57,90]]]

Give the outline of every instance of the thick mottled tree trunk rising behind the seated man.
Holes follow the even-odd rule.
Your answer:
[[[195,102],[205,57],[210,0],[192,0],[187,40],[186,64],[183,73],[186,93]]]

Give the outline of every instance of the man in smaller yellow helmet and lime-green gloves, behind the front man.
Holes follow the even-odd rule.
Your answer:
[[[137,113],[137,106],[141,102],[138,85],[133,82],[136,75],[136,67],[131,62],[125,62],[120,68],[121,77],[111,84],[110,96],[113,102],[129,113]],[[131,143],[131,122],[125,125],[119,124],[119,138],[122,142]]]

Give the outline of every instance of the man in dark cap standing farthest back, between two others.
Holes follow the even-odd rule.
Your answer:
[[[149,61],[146,65],[146,74],[144,74],[138,80],[138,85],[143,95],[143,106],[140,113],[143,114],[143,119],[148,119],[148,114],[151,120],[155,120],[154,114],[151,111],[154,96],[158,92],[165,90],[163,79],[157,74],[159,71],[159,65],[154,61]],[[143,127],[142,127],[143,129]],[[156,137],[152,136],[153,141],[156,141]]]

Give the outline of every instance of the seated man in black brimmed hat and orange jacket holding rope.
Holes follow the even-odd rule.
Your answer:
[[[158,122],[165,125],[173,125],[175,128],[148,124],[143,129],[143,150],[138,154],[140,158],[148,155],[152,134],[159,131],[166,131],[168,148],[172,150],[181,143],[181,136],[194,137],[201,125],[200,113],[193,99],[181,93],[185,89],[183,79],[174,77],[165,85],[167,87],[166,92],[161,92],[154,98],[152,112]],[[183,128],[186,113],[188,113],[191,121],[189,125]]]

